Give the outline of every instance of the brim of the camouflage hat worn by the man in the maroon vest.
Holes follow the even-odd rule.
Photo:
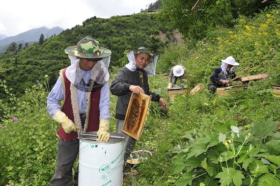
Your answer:
[[[78,58],[105,58],[112,54],[111,50],[104,47],[100,47],[100,48],[101,48],[101,52],[85,53],[85,52],[77,51],[77,45],[75,45],[75,46],[69,46],[65,48],[64,51],[66,54]]]

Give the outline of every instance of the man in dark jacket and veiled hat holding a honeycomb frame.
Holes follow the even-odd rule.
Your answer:
[[[122,132],[128,103],[132,92],[134,94],[152,95],[152,101],[161,104],[162,109],[167,109],[166,101],[158,94],[151,92],[148,84],[148,75],[154,76],[158,55],[145,47],[131,50],[126,55],[129,63],[121,68],[116,78],[111,83],[110,91],[118,96],[116,105],[116,132],[125,137],[124,160],[129,158],[135,147],[136,140]]]

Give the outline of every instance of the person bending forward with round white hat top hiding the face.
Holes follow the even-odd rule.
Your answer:
[[[176,65],[171,69],[168,77],[168,87],[167,89],[173,88],[176,85],[178,79],[180,79],[180,87],[183,88],[184,80],[188,77],[187,70],[183,65]]]

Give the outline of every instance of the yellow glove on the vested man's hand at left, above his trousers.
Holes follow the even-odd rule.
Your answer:
[[[79,129],[78,126],[76,126],[71,119],[69,119],[66,114],[62,111],[56,112],[52,119],[59,122],[62,125],[63,130],[66,134],[70,134],[71,131],[76,132],[77,129]]]

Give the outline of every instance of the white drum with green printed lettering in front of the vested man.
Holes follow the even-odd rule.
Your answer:
[[[98,142],[96,132],[79,138],[79,186],[121,186],[123,182],[123,135],[109,132],[108,142]]]

